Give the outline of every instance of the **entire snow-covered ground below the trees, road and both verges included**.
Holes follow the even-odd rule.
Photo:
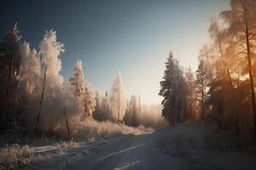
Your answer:
[[[23,150],[28,158],[22,160],[27,162],[24,162],[27,166],[23,166],[23,169],[253,170],[256,167],[253,150],[221,151],[210,148],[205,137],[201,137],[196,130],[197,127],[189,126],[189,130],[187,127],[156,131],[144,127],[125,127],[122,135],[111,139],[92,138],[86,142],[20,146],[19,152]],[[18,149],[17,145],[10,151]],[[6,154],[8,152],[6,150]]]

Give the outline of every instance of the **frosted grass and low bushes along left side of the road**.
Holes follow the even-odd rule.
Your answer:
[[[0,149],[0,170],[1,169],[17,169],[25,167],[36,161],[48,160],[50,156],[59,156],[65,150],[82,147],[83,144],[97,144],[105,139],[120,136],[126,133],[142,134],[154,132],[151,128],[128,127],[124,124],[116,124],[113,122],[96,122],[93,119],[87,119],[84,122],[72,120],[75,126],[71,126],[72,139],[58,140],[52,138],[42,139],[26,139],[20,144],[11,144],[2,146]],[[78,123],[79,122],[79,123]],[[55,133],[61,139],[67,137],[67,127],[60,124],[56,126]],[[79,141],[79,142],[76,142]],[[18,139],[16,141],[22,141]],[[24,144],[24,145],[21,145]],[[29,145],[27,145],[29,144]]]

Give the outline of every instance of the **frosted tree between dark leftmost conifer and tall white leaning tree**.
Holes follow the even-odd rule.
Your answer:
[[[37,108],[41,93],[41,62],[36,49],[31,49],[27,42],[20,45],[20,55],[20,83],[17,93],[19,109],[17,114],[20,125],[26,129],[31,129],[31,122],[35,120],[35,108]]]

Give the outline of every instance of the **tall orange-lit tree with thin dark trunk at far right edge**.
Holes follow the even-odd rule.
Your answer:
[[[244,65],[243,75],[249,75],[249,84],[251,91],[251,105],[253,111],[253,128],[256,139],[256,104],[255,87],[253,72],[256,67],[255,62],[255,14],[256,2],[254,0],[231,0],[231,8],[223,11],[220,15],[226,23],[225,37],[236,41],[238,55],[241,58],[241,64]]]

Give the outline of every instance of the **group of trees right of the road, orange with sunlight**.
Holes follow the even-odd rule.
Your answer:
[[[201,119],[235,134],[256,136],[256,2],[231,0],[212,20],[195,73],[183,71],[172,54],[160,95],[163,116],[176,124]]]

